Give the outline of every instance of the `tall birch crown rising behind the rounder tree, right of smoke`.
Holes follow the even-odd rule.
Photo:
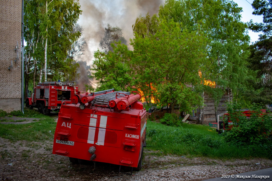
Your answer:
[[[239,93],[238,88],[244,86],[247,76],[245,59],[249,43],[247,25],[241,21],[240,12],[242,8],[228,0],[167,0],[160,7],[159,16],[181,22],[188,32],[202,32],[208,39],[208,60],[199,69],[203,79],[215,81],[217,87]],[[206,91],[205,86],[203,89]],[[218,100],[218,90],[217,93],[213,89],[209,92]]]

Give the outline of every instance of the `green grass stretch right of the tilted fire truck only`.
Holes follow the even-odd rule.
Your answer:
[[[182,123],[180,127],[147,121],[147,148],[161,154],[205,156],[211,158],[270,158],[271,152],[259,146],[226,143],[215,128]]]

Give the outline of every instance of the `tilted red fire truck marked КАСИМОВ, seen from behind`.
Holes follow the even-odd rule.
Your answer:
[[[138,92],[106,91],[72,96],[63,102],[53,154],[72,163],[94,160],[140,170],[146,135],[146,110]]]

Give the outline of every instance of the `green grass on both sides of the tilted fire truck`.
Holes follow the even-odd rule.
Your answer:
[[[53,140],[56,122],[35,110],[25,109],[25,117],[42,118],[28,124],[1,124],[0,137],[11,141]],[[205,156],[210,158],[271,158],[271,150],[256,146],[237,146],[227,143],[215,128],[182,123],[179,127],[166,126],[147,121],[147,149],[154,154],[175,154],[185,157]],[[159,151],[157,151],[159,150]]]

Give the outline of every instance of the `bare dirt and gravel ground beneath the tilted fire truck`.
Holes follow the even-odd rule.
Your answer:
[[[118,173],[117,165],[91,161],[72,164],[68,157],[52,154],[52,143],[0,138],[0,180],[204,180],[272,167],[272,160],[267,159],[156,156],[144,149],[142,170],[126,175]]]

